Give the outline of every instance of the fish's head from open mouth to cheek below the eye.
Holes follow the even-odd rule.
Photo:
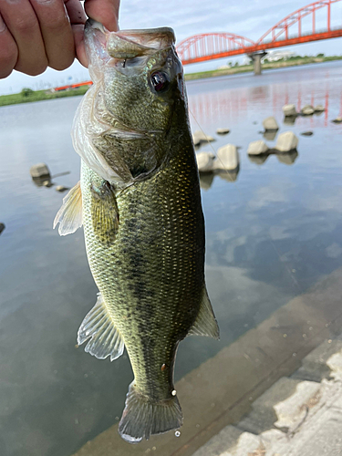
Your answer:
[[[120,129],[158,136],[186,103],[181,60],[169,27],[109,32],[88,21],[89,72],[100,86],[106,111]]]

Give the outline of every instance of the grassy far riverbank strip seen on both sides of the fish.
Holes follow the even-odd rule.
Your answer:
[[[309,65],[313,63],[324,63],[331,62],[335,60],[342,60],[342,56],[332,56],[332,57],[292,57],[285,61],[278,62],[267,62],[262,65],[262,70],[267,69],[276,69],[276,68],[285,68],[285,67],[299,67],[302,65]],[[238,67],[226,67],[226,68],[217,68],[209,71],[201,71],[197,73],[189,73],[185,75],[185,80],[196,80],[203,78],[216,78],[220,76],[228,75],[237,75],[240,73],[252,73],[254,71],[253,65],[240,65]],[[0,95],[0,107],[10,106],[21,103],[30,103],[34,101],[42,101],[45,99],[54,99],[54,98],[65,98],[65,97],[78,97],[84,95],[88,86],[74,88],[71,90],[65,90],[60,92],[50,92],[47,89],[44,90],[31,90],[27,93],[24,93],[23,89],[20,93],[15,93],[11,95]]]

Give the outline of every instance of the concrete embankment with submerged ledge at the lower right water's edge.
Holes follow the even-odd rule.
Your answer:
[[[310,413],[317,410],[316,405],[320,397],[327,398],[326,404],[335,400],[333,389],[329,389],[329,386],[324,389],[319,387],[321,379],[329,378],[329,372],[332,370],[331,362],[330,367],[325,364],[331,352],[326,352],[323,361],[319,361],[318,356],[318,364],[310,364],[310,358],[306,358],[302,365],[302,360],[325,340],[334,340],[338,337],[342,327],[341,295],[342,269],[338,269],[318,282],[307,293],[289,301],[259,326],[245,333],[229,347],[224,347],[215,357],[208,359],[177,382],[177,395],[184,412],[184,425],[181,428],[180,437],[176,437],[174,432],[169,432],[133,446],[119,438],[117,425],[114,425],[94,440],[88,441],[75,456],[130,456],[148,453],[158,454],[158,456],[191,456],[196,454],[196,451],[199,451],[196,456],[222,453],[229,456],[230,448],[237,448],[236,445],[239,444],[241,436],[244,438],[247,436],[248,442],[250,442],[248,439],[252,439],[251,446],[244,446],[243,442],[244,453],[232,453],[234,456],[248,454],[248,452],[264,456],[268,453],[265,452],[263,441],[268,434],[263,432],[270,430],[275,421],[279,420],[273,408],[273,404],[279,403],[279,400],[285,404],[281,416],[283,421],[280,421],[281,426],[275,431],[283,432],[285,440],[288,439],[287,432],[294,433],[294,439],[297,439],[297,435],[300,434],[297,434],[296,426],[305,416],[305,407],[309,409],[306,418],[310,418]],[[328,342],[325,344],[333,349],[339,349],[340,341],[332,345]],[[334,366],[336,362],[335,365],[333,363]],[[277,386],[278,381],[281,383]],[[296,394],[298,385],[303,381],[310,383],[309,395],[306,395],[305,400],[302,401],[304,408],[299,407],[293,425],[288,425],[291,417],[286,416],[284,411],[288,409],[286,399]],[[311,383],[314,383],[314,386]],[[273,385],[275,389],[271,389]],[[282,387],[281,391],[275,394],[279,385]],[[260,410],[264,411],[259,416]],[[324,414],[323,408],[319,410],[319,413]],[[337,424],[341,425],[342,414],[338,415],[339,410],[335,410],[334,413],[334,417],[326,415],[328,422],[339,417]],[[325,420],[325,416],[321,416],[323,417],[321,420]],[[323,428],[326,429],[326,426]],[[306,428],[302,427],[302,429]],[[219,434],[222,430],[223,434]],[[211,440],[217,434],[219,434],[218,437]],[[282,437],[283,434],[276,434],[276,437],[279,435]],[[316,440],[319,440],[323,434],[319,434],[317,430],[315,436]],[[306,439],[310,440],[309,433],[306,434]],[[215,440],[216,442],[221,440],[216,447]],[[337,440],[334,441],[336,447],[339,443]],[[206,451],[201,453],[200,449],[203,445],[209,446],[204,447]],[[250,448],[253,450],[249,451]],[[281,454],[285,456],[285,454],[299,453],[281,452]],[[331,451],[326,454],[341,453]]]

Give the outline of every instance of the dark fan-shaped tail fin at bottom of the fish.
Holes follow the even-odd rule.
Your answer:
[[[149,440],[152,434],[178,429],[181,425],[181,406],[176,396],[152,402],[130,384],[126,407],[119,422],[119,434],[123,440],[139,443],[143,438]]]

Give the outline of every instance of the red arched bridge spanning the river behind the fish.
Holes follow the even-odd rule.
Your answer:
[[[266,49],[342,36],[342,15],[338,15],[339,24],[337,26],[332,24],[332,18],[337,17],[332,11],[336,7],[334,4],[341,1],[320,0],[306,5],[279,21],[255,42],[232,33],[194,35],[181,41],[177,46],[177,52],[183,65],[248,54],[254,59],[254,71],[258,73],[258,70],[261,70],[261,57],[265,55]],[[322,10],[319,12],[320,16],[322,14],[326,16],[324,29],[318,29],[316,24],[316,13],[319,10]],[[339,11],[339,13],[341,12]],[[303,19],[307,16],[309,17],[304,24]],[[304,26],[307,28],[308,20],[309,29],[304,30]]]

